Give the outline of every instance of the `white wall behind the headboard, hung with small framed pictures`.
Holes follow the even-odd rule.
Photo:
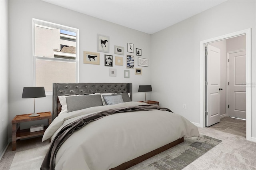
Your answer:
[[[80,82],[128,82],[133,83],[133,101],[144,99],[144,93],[138,93],[139,85],[150,84],[152,67],[142,68],[142,75],[130,70],[130,78],[124,78],[125,57],[128,54],[127,43],[133,43],[134,49],[142,49],[143,58],[150,64],[150,35],[130,28],[119,26],[104,20],[87,16],[66,8],[43,1],[9,1],[9,41],[10,41],[10,90],[9,90],[9,138],[11,138],[11,120],[15,115],[33,111],[33,99],[22,99],[23,87],[32,86],[32,18],[53,22],[79,29],[79,78]],[[100,65],[83,63],[83,51],[97,52],[97,34],[110,37],[109,55],[124,57],[123,66],[117,69],[116,77],[108,76],[110,67],[104,66],[104,54],[100,53]],[[122,46],[125,55],[115,55],[114,45]],[[129,53],[131,54],[131,53]],[[134,53],[135,66],[138,67]],[[36,112],[52,111],[52,95],[36,99]],[[25,126],[29,125],[24,125]],[[23,128],[23,127],[22,127]]]

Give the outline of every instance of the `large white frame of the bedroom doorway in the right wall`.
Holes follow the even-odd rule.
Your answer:
[[[206,60],[205,60],[205,45],[212,42],[218,42],[220,40],[226,40],[237,36],[246,35],[246,140],[252,140],[252,29],[241,30],[238,32],[226,34],[216,38],[203,40],[200,42],[200,127],[206,127]]]

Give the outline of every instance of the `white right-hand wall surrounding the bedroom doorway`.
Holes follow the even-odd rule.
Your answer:
[[[199,125],[200,41],[248,28],[252,28],[252,136],[256,137],[256,1],[229,0],[153,34],[152,100]]]

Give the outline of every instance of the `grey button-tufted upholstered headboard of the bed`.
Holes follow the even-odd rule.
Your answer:
[[[53,83],[52,120],[61,111],[58,96],[94,93],[130,93],[132,100],[132,83]]]

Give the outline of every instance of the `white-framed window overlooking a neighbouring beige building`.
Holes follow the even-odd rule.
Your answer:
[[[33,18],[35,86],[52,92],[52,83],[78,83],[78,29]]]

